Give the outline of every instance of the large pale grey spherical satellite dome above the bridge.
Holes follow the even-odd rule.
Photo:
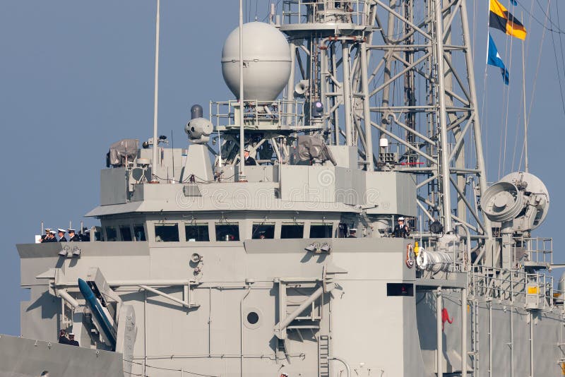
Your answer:
[[[290,77],[290,47],[285,35],[268,23],[243,25],[244,100],[271,102]],[[222,49],[225,83],[239,100],[239,28],[228,35]]]

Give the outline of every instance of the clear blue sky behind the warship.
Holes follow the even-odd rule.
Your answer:
[[[518,0],[520,1],[520,0]],[[502,1],[507,4],[509,1]],[[531,0],[521,1],[530,9]],[[554,0],[552,3],[559,2]],[[251,20],[266,16],[268,3],[249,3]],[[540,0],[545,6],[547,0]],[[478,5],[477,5],[478,4]],[[483,8],[483,4],[484,8]],[[475,71],[482,105],[486,1],[476,18]],[[521,17],[521,8],[515,15]],[[561,11],[561,9],[560,9]],[[534,14],[544,20],[537,5]],[[557,13],[553,13],[557,25]],[[565,7],[560,13],[565,29]],[[155,0],[77,1],[4,0],[0,6],[0,125],[4,131],[0,185],[0,333],[19,335],[19,258],[15,244],[33,241],[40,222],[47,227],[78,227],[82,215],[99,203],[99,174],[105,153],[121,138],[145,140],[153,124],[153,54]],[[528,104],[532,93],[542,28],[528,23],[526,78]],[[160,133],[174,131],[175,146],[186,144],[183,127],[189,108],[200,103],[207,113],[209,100],[227,100],[220,54],[223,40],[237,27],[237,1],[163,0],[161,10]],[[521,51],[510,37],[492,31],[511,71],[508,145],[503,171],[511,171],[514,130],[522,124]],[[554,36],[559,45],[559,35]],[[564,36],[565,37],[565,36]],[[565,41],[564,41],[565,42]],[[506,45],[507,44],[507,45]],[[561,59],[561,51],[557,54]],[[565,77],[561,67],[561,77]],[[504,86],[499,71],[487,70],[487,136],[489,181],[499,176],[501,115]],[[545,36],[535,102],[530,118],[530,171],[540,176],[552,194],[552,208],[537,234],[553,236],[554,258],[563,236],[559,216],[565,208],[559,197],[564,184],[561,150],[565,117],[557,80],[554,51]],[[501,133],[501,130],[503,133]],[[520,144],[518,138],[518,145]],[[520,152],[518,152],[519,158]],[[514,158],[516,160],[516,158]],[[515,163],[515,166],[517,163]]]

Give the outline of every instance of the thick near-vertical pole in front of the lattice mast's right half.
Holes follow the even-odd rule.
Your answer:
[[[444,229],[451,232],[451,183],[449,181],[449,153],[447,150],[447,114],[444,67],[444,18],[441,16],[441,0],[434,0],[434,21],[436,26],[436,72],[437,97],[439,102],[439,137],[440,137],[440,174],[441,174],[441,209],[443,210]],[[478,156],[477,156],[478,157]]]

